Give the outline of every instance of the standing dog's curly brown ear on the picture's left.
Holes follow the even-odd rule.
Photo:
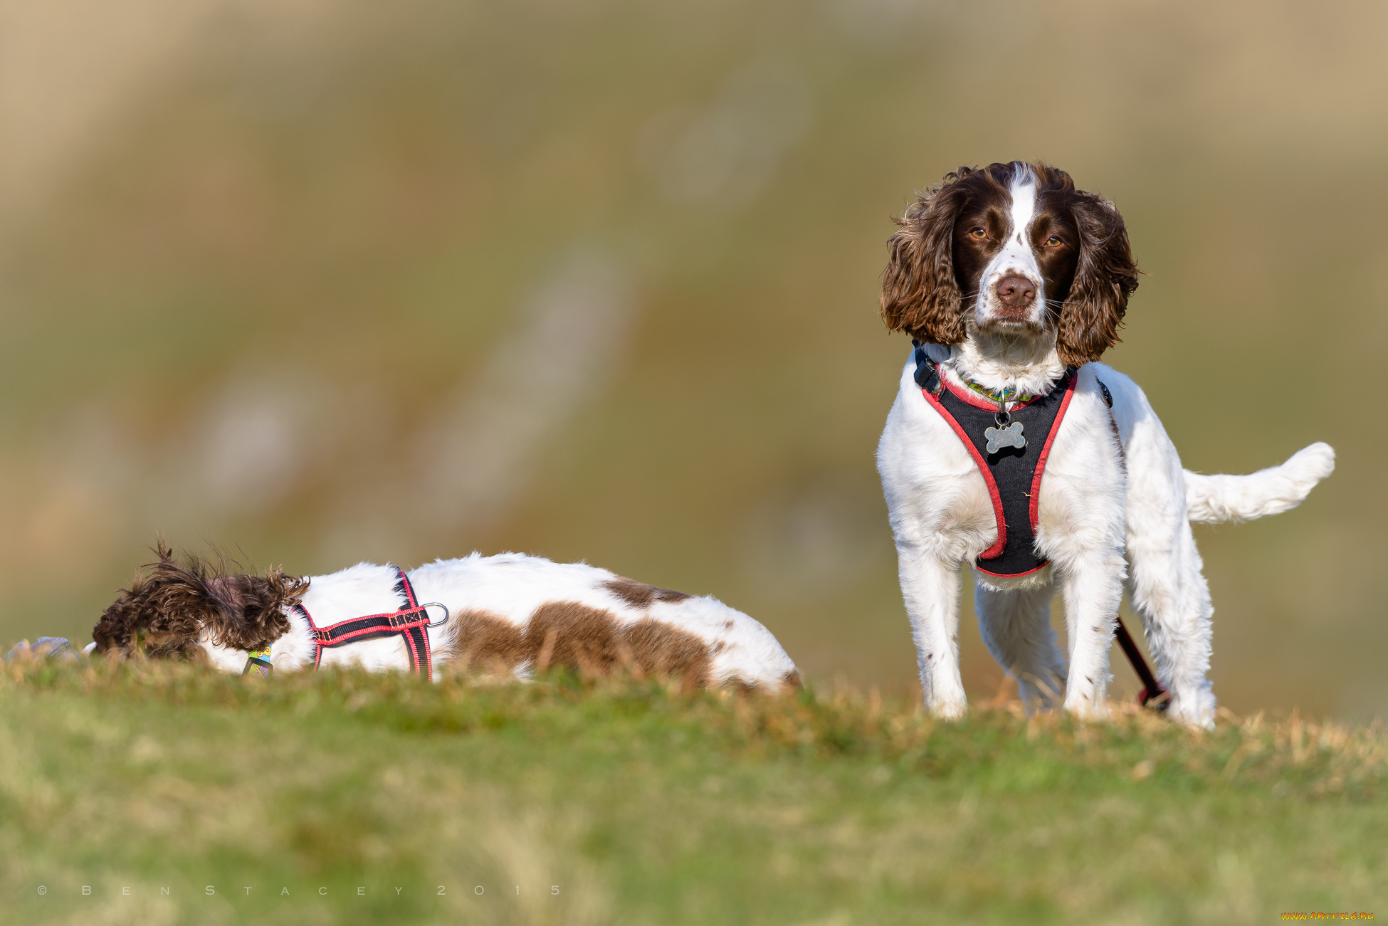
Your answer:
[[[881,279],[881,318],[888,329],[934,344],[965,339],[954,272],[954,226],[969,200],[959,180],[973,172],[960,167],[947,174],[897,219],[901,229],[887,240],[891,257]]]

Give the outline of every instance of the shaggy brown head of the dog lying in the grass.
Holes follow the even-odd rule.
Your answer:
[[[137,572],[92,630],[99,653],[194,658],[201,641],[232,650],[268,647],[289,630],[285,605],[308,587],[298,576],[271,569],[260,576],[225,575],[197,557],[182,562],[162,541],[158,562]]]

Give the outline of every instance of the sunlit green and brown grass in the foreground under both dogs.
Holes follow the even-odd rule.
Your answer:
[[[10,664],[0,920],[1263,923],[1388,909],[1382,729],[1226,715],[1202,734],[1116,709],[1087,725],[994,702],[945,725],[847,687]]]

